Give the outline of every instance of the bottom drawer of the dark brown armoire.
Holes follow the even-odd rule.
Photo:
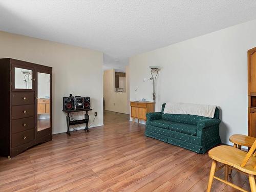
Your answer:
[[[12,147],[30,142],[35,138],[35,129],[12,134]]]

